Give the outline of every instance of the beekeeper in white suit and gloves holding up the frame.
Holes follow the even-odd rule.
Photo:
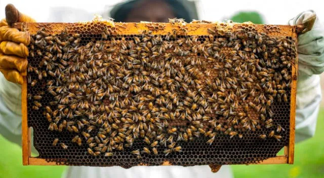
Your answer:
[[[183,1],[182,1],[183,2]],[[13,22],[35,22],[7,6],[6,19],[0,22],[0,134],[21,145],[21,84],[26,72],[29,35],[11,28]],[[180,1],[135,0],[117,5],[111,17],[124,22],[167,22],[169,18],[191,20],[196,11],[189,10]],[[8,24],[9,22],[9,24]],[[288,21],[289,25],[305,25],[298,36],[298,80],[296,100],[296,141],[311,138],[321,100],[318,74],[324,71],[324,27],[314,11],[305,11]],[[4,149],[4,148],[2,148]],[[203,166],[136,166],[124,169],[114,167],[70,166],[63,177],[233,177],[229,166],[217,173]]]

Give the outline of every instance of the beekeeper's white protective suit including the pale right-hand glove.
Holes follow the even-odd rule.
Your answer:
[[[302,24],[313,17],[306,11],[289,21]],[[324,26],[316,19],[311,31],[299,35],[299,75],[296,108],[296,141],[312,137],[321,100],[319,76],[324,71]],[[0,73],[0,134],[9,141],[21,144],[21,87]],[[4,148],[3,148],[4,149]],[[1,158],[0,158],[1,159]],[[115,167],[71,166],[64,177],[232,177],[229,166],[212,173],[209,166],[136,166],[130,169]]]

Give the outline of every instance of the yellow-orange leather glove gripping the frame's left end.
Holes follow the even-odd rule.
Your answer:
[[[20,13],[12,4],[6,6],[6,19],[0,21],[0,71],[8,81],[23,83],[22,73],[27,69],[28,32],[21,32],[11,25],[16,22],[35,22]]]

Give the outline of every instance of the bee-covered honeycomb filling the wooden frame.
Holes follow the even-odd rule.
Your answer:
[[[270,35],[280,33],[270,25],[211,23],[205,35],[189,35],[181,19],[145,26],[35,25],[27,109],[39,158],[250,164],[288,145],[295,37]]]

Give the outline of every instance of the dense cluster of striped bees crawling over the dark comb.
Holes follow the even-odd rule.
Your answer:
[[[256,31],[220,34],[217,26],[208,32],[206,40],[176,30],[117,39],[106,27],[100,40],[83,43],[80,34],[40,29],[29,50],[42,60],[28,66],[27,79],[45,90],[28,102],[49,130],[74,133],[70,143],[55,139],[53,147],[86,145],[93,156],[132,150],[135,140],[146,146],[132,154],[157,155],[163,147],[167,156],[181,152],[180,142],[204,137],[213,145],[218,135],[241,139],[262,128],[271,131],[259,139],[280,141],[285,129],[272,119],[271,105],[289,101],[294,42]],[[42,102],[45,93],[50,102]]]

